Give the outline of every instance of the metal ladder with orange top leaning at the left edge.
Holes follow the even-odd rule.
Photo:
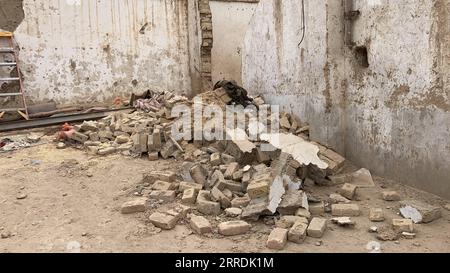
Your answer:
[[[22,107],[20,108],[6,108],[1,109],[0,108],[0,119],[3,117],[3,115],[6,112],[16,112],[19,113],[24,119],[28,120],[28,107],[27,102],[25,99],[25,93],[23,91],[23,84],[22,84],[22,76],[20,74],[19,64],[18,64],[18,58],[16,50],[14,49],[14,37],[11,32],[5,32],[0,31],[0,42],[1,40],[7,40],[7,45],[9,47],[0,47],[0,54],[11,54],[14,57],[14,60],[12,62],[0,62],[0,68],[1,67],[16,67],[17,69],[17,77],[3,77],[0,76],[0,82],[19,82],[20,92],[16,93],[0,93],[0,97],[14,97],[14,96],[21,96],[22,97]],[[2,43],[3,44],[3,43]]]

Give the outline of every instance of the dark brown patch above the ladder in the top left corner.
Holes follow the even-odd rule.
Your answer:
[[[24,18],[23,0],[0,1],[0,29],[14,32]]]

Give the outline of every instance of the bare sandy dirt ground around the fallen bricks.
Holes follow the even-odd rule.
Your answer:
[[[145,213],[120,213],[121,204],[135,198],[144,172],[177,170],[181,163],[91,156],[75,148],[58,150],[51,142],[0,153],[0,233],[8,235],[0,239],[0,252],[272,252],[265,242],[273,226],[262,220],[253,224],[248,234],[226,238],[217,234],[217,228],[212,235],[196,235],[185,223],[171,231],[155,228],[147,218],[166,205],[152,204]],[[363,214],[354,218],[354,228],[329,224],[323,238],[288,243],[282,252],[369,252],[367,244],[377,241],[369,227],[389,225],[392,218],[400,217],[397,202],[380,198],[382,188],[396,190],[404,199],[416,198],[442,207],[448,203],[398,183],[381,178],[375,181],[376,188],[358,190]],[[308,186],[307,190],[326,197],[337,187]],[[370,207],[383,208],[386,221],[371,223]],[[442,212],[441,219],[416,225],[415,239],[379,241],[381,251],[450,252],[450,212],[444,208]],[[330,214],[325,216],[331,218]],[[225,216],[209,219],[213,226],[228,220]]]

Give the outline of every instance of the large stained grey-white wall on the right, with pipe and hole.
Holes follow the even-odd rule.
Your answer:
[[[244,87],[312,125],[312,138],[405,184],[450,198],[450,2],[262,0],[245,39]],[[348,1],[347,1],[348,2]]]

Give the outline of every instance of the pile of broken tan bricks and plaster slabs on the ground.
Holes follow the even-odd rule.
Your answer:
[[[233,101],[222,88],[201,96],[204,103],[222,108]],[[262,98],[252,101],[259,108],[264,105]],[[351,217],[360,216],[361,209],[352,200],[358,187],[374,185],[371,174],[365,169],[341,174],[345,158],[309,141],[307,124],[281,113],[281,132],[262,134],[257,141],[233,138],[236,134],[249,134],[251,122],[242,131],[227,129],[225,133],[230,136],[227,140],[176,141],[171,136],[176,121],[171,117],[171,109],[179,104],[191,107],[193,102],[164,93],[157,99],[139,100],[136,104],[139,109],[132,113],[116,113],[74,126],[70,141],[84,145],[93,154],[120,152],[130,156],[145,154],[150,160],[172,157],[184,161],[177,172],[144,174],[142,185],[149,190],[148,194],[123,204],[122,213],[146,211],[149,199],[174,203],[169,210],[152,213],[150,222],[169,230],[184,219],[199,234],[213,232],[208,216],[224,214],[231,220],[217,225],[218,233],[224,236],[244,234],[251,229],[252,222],[279,215],[266,244],[278,250],[287,241],[301,243],[306,236],[321,238],[327,229],[327,219],[321,217],[325,213],[331,213],[334,217],[331,221],[337,225],[355,225]],[[246,112],[246,119],[252,120],[255,114]],[[272,149],[267,151],[263,145]],[[308,181],[320,186],[343,186],[328,200],[318,200],[305,192]],[[383,198],[398,200],[395,192],[385,192]],[[435,220],[440,217],[440,210],[405,202],[401,214],[405,219],[394,219],[392,230],[372,231],[385,240],[411,237],[414,223]],[[371,209],[369,218],[384,221],[383,210]]]

